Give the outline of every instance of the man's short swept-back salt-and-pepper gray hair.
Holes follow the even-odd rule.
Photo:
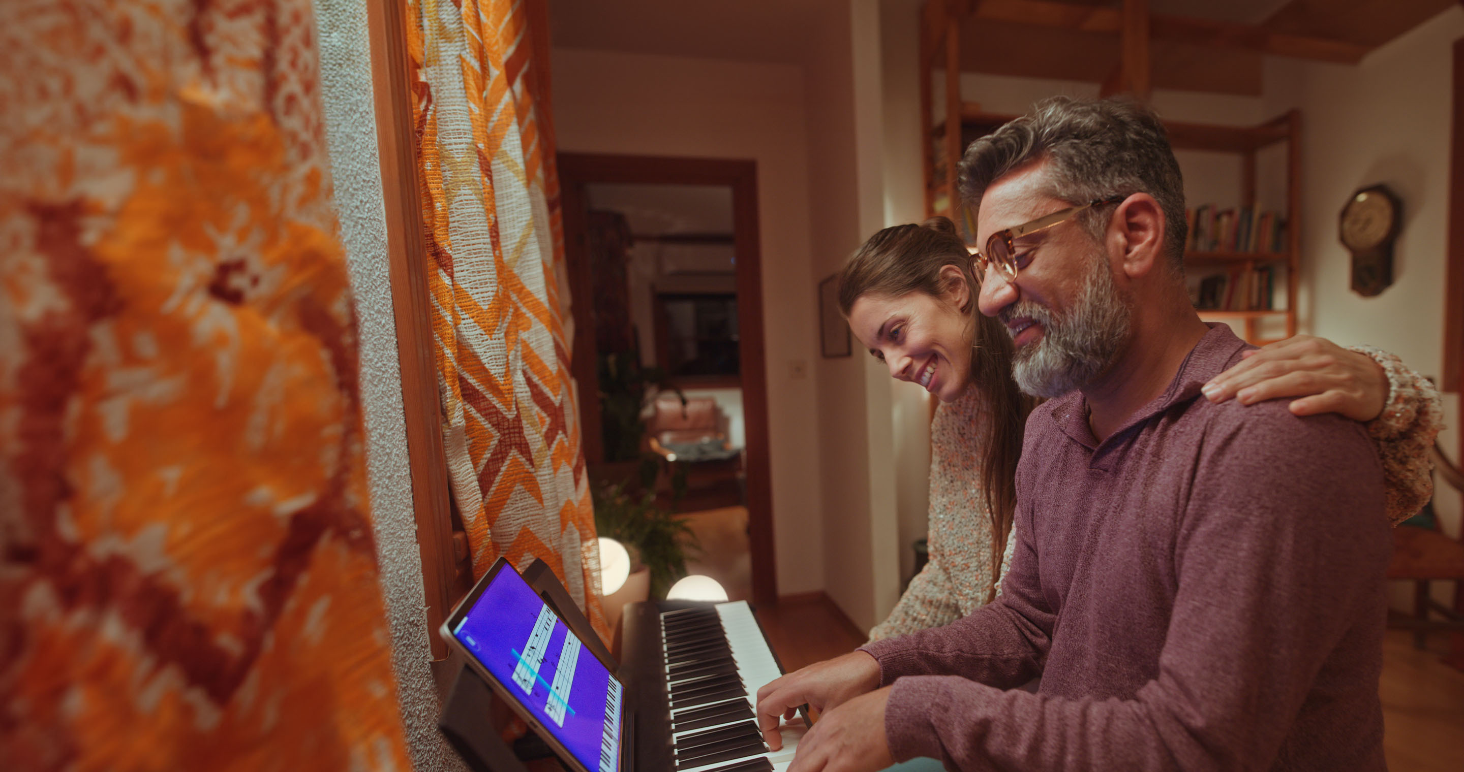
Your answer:
[[[1129,98],[1051,96],[1032,111],[966,148],[960,197],[972,212],[987,187],[1012,170],[1050,159],[1048,194],[1080,205],[1110,196],[1148,193],[1164,211],[1164,250],[1176,275],[1184,272],[1184,178],[1164,123]],[[1082,212],[1088,232],[1102,240],[1111,209]],[[972,234],[975,235],[975,234]]]

